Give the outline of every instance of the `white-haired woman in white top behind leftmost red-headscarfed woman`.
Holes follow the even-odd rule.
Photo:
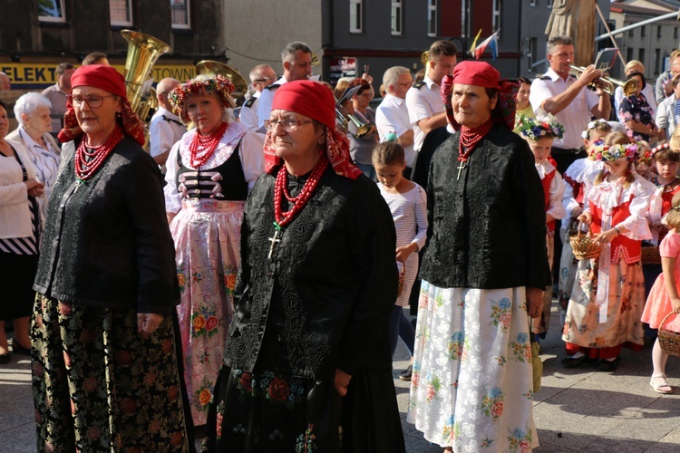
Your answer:
[[[6,137],[7,140],[24,145],[28,158],[34,164],[37,179],[44,184],[44,197],[38,198],[42,218],[47,214],[47,200],[52,193],[61,159],[61,149],[50,135],[51,107],[52,103],[44,95],[38,92],[25,93],[15,103],[15,118],[19,127]]]

